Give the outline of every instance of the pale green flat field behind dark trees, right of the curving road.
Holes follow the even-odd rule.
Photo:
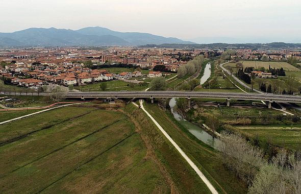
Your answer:
[[[293,65],[286,62],[264,62],[264,61],[240,61],[243,64],[243,67],[254,67],[259,69],[260,67],[264,67],[265,69],[269,68],[283,68],[286,71],[301,71],[301,69],[294,67]],[[225,66],[235,67],[236,63],[228,63]]]

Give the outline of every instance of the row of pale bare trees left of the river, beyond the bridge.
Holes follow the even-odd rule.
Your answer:
[[[178,77],[183,78],[186,75],[193,75],[195,71],[200,70],[202,68],[203,62],[204,62],[203,55],[199,55],[195,57],[193,60],[188,61],[187,64],[178,68]]]

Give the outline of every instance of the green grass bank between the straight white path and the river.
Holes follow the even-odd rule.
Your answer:
[[[235,174],[224,167],[218,152],[196,139],[181,127],[172,115],[166,114],[157,105],[144,104],[147,111],[201,169],[219,193],[246,193],[246,185],[237,180]],[[191,191],[186,191],[186,193],[191,193]]]

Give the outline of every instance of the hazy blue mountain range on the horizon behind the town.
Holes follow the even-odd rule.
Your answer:
[[[102,27],[80,30],[30,28],[13,33],[0,33],[0,46],[106,46],[144,44],[194,44],[178,38],[149,33],[116,32]]]

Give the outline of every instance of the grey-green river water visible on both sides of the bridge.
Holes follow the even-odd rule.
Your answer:
[[[210,63],[207,63],[205,70],[204,70],[204,76],[200,79],[200,84],[204,84],[208,78],[211,75],[211,65]],[[212,135],[207,133],[204,129],[198,127],[197,125],[194,125],[191,122],[188,122],[187,120],[183,119],[183,117],[176,111],[173,110],[173,107],[175,106],[175,98],[172,98],[169,101],[169,106],[171,109],[171,112],[176,120],[179,121],[179,123],[185,127],[192,135],[194,135],[197,139],[203,141],[204,143],[208,144],[209,146],[213,148],[217,148],[220,144],[220,140],[217,138],[214,138]]]

